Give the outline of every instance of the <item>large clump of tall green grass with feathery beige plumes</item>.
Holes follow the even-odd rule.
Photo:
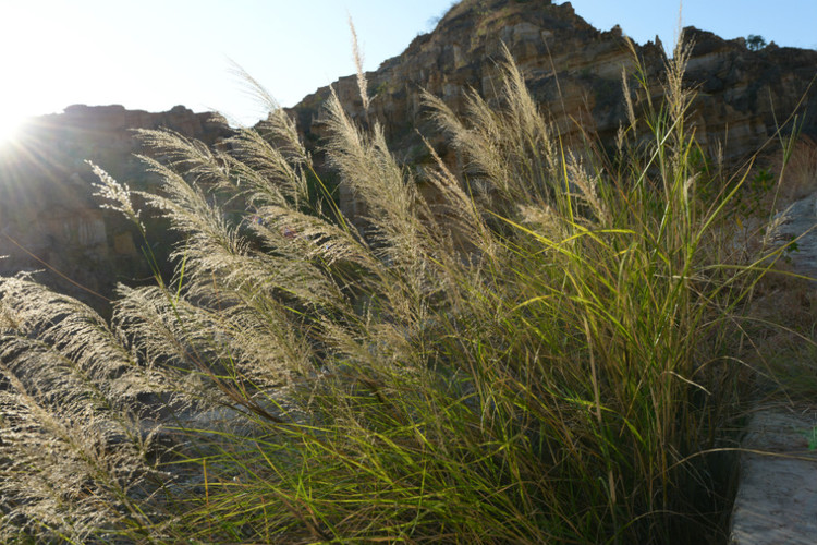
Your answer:
[[[3,537],[717,534],[729,474],[710,451],[763,268],[732,257],[734,193],[699,197],[686,58],[666,104],[625,74],[643,99],[614,157],[568,150],[510,53],[500,96],[463,119],[427,96],[462,175],[400,165],[332,96],[325,152],[365,238],[280,108],[222,150],[142,132],[167,158],[143,158],[163,181],[143,196],[184,235],[175,277],[122,287],[111,324],[0,283]]]

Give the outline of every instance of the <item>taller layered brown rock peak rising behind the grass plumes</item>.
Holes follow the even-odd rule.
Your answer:
[[[743,39],[686,28],[693,47],[684,85],[697,92],[690,112],[698,142],[710,157],[740,165],[755,153],[792,113],[800,130],[817,136],[817,51],[770,45],[749,51]],[[570,144],[581,129],[598,134],[612,147],[619,126],[627,123],[622,70],[635,95],[635,60],[622,32],[599,32],[576,15],[570,3],[547,0],[464,0],[437,28],[418,36],[399,57],[368,73],[371,97],[368,118],[356,77],[332,84],[349,113],[358,122],[377,120],[395,155],[408,164],[427,160],[417,131],[431,138],[438,153],[454,160],[430,123],[423,89],[442,97],[462,112],[470,89],[490,98],[499,84],[497,63],[505,45],[534,97],[551,118],[556,132]],[[654,100],[663,94],[666,56],[655,43],[635,46],[651,83]],[[307,141],[325,135],[321,105],[329,87],[293,108]],[[643,94],[642,94],[643,95]],[[791,131],[791,125],[784,128]],[[343,195],[354,210],[353,197]]]

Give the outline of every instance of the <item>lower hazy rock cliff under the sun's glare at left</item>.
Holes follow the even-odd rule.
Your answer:
[[[136,283],[153,271],[141,251],[145,241],[119,213],[93,197],[96,177],[84,161],[108,170],[132,190],[151,179],[133,154],[142,152],[132,129],[168,128],[215,144],[230,134],[224,120],[176,106],[148,113],[122,106],[71,106],[64,113],[32,120],[0,148],[0,275],[39,271],[37,278],[63,293],[107,311],[117,282]],[[156,234],[158,230],[151,232]],[[162,238],[150,240],[167,255]]]

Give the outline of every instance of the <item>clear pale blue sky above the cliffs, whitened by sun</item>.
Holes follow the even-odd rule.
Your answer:
[[[434,29],[452,3],[0,0],[0,137],[22,116],[61,112],[72,104],[148,111],[183,104],[249,124],[264,111],[233,63],[292,106],[354,73],[350,16],[370,71]],[[618,23],[639,44],[659,34],[670,47],[678,28],[678,0],[572,4],[597,28]],[[817,0],[685,0],[683,22],[725,38],[759,34],[781,46],[817,49]]]

